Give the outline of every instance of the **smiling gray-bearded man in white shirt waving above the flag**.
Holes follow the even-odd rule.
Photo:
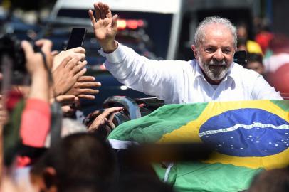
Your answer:
[[[205,18],[196,29],[194,60],[149,60],[115,41],[117,15],[101,2],[88,11],[105,67],[120,82],[164,103],[282,100],[261,75],[233,62],[236,27],[226,18]]]

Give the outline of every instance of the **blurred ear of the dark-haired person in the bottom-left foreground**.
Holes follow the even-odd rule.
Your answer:
[[[53,167],[48,166],[43,170],[43,180],[47,191],[57,191],[56,170]]]

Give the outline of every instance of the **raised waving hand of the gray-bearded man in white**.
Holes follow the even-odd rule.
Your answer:
[[[117,34],[117,15],[112,16],[110,7],[101,2],[93,4],[95,8],[95,16],[93,11],[89,10],[91,23],[95,38],[106,53],[111,53],[117,48],[115,36]]]

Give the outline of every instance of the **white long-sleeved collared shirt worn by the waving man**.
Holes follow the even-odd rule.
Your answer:
[[[105,67],[120,82],[134,90],[157,96],[166,104],[232,100],[282,100],[279,92],[261,75],[232,63],[222,82],[206,81],[196,60],[149,60],[118,44],[105,56]]]

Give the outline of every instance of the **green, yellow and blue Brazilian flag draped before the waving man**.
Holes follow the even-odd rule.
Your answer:
[[[108,137],[112,147],[132,143],[203,142],[209,160],[154,166],[176,191],[243,191],[263,169],[288,166],[289,100],[164,105],[120,124]]]

